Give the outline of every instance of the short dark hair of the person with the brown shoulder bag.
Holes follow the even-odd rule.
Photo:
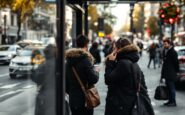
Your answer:
[[[76,45],[78,48],[84,48],[89,43],[89,39],[84,35],[79,35],[76,38]]]

